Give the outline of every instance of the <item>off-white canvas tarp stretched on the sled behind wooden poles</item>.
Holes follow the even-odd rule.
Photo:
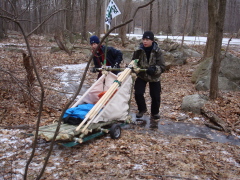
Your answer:
[[[117,77],[111,72],[107,75],[102,75],[72,107],[83,103],[95,104],[99,100],[98,95],[103,91],[107,91]],[[132,83],[132,77],[129,75],[121,83],[121,86],[118,87],[113,97],[109,99],[103,109],[94,117],[92,123],[113,120],[124,121],[128,115],[128,103],[131,96]]]

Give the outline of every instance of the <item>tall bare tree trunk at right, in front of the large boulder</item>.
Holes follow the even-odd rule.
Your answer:
[[[221,47],[222,47],[222,37],[223,37],[223,26],[224,17],[226,10],[226,0],[208,1],[208,6],[210,10],[214,11],[213,21],[211,22],[214,28],[214,42],[213,42],[213,63],[211,69],[211,80],[210,80],[210,99],[216,99],[218,97],[218,74],[221,64]],[[211,13],[209,13],[211,14]],[[209,22],[210,23],[210,22]]]

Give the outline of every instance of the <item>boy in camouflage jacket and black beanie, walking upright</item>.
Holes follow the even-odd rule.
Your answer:
[[[146,72],[137,74],[135,81],[135,100],[138,106],[137,118],[141,118],[147,112],[144,93],[149,83],[151,103],[151,118],[159,119],[159,108],[161,102],[160,76],[165,70],[165,62],[158,44],[154,41],[154,34],[146,31],[143,34],[139,48],[134,52],[132,59],[139,59],[138,67],[147,69]]]

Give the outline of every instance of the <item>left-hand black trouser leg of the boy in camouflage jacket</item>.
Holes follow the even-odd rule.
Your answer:
[[[144,93],[146,89],[147,82],[142,80],[141,78],[137,78],[135,81],[134,89],[135,89],[135,100],[138,106],[139,112],[146,112],[147,106],[144,98]]]

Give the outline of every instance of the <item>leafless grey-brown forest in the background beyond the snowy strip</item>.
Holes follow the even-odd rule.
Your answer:
[[[131,17],[134,9],[148,1],[115,0],[121,10],[112,26]],[[0,14],[21,19],[27,32],[48,34],[68,31],[69,34],[81,32],[104,33],[105,0],[3,0]],[[207,0],[155,0],[152,5],[139,11],[126,27],[126,33],[134,33],[134,28],[152,30],[154,33],[179,35],[199,35],[208,29]],[[9,14],[11,13],[11,14]],[[229,0],[226,6],[225,33],[237,33],[240,27],[240,0]],[[50,18],[50,19],[48,19]],[[0,34],[7,30],[19,31],[14,22],[0,19]],[[99,28],[100,27],[100,28]],[[118,33],[120,30],[116,30]]]

